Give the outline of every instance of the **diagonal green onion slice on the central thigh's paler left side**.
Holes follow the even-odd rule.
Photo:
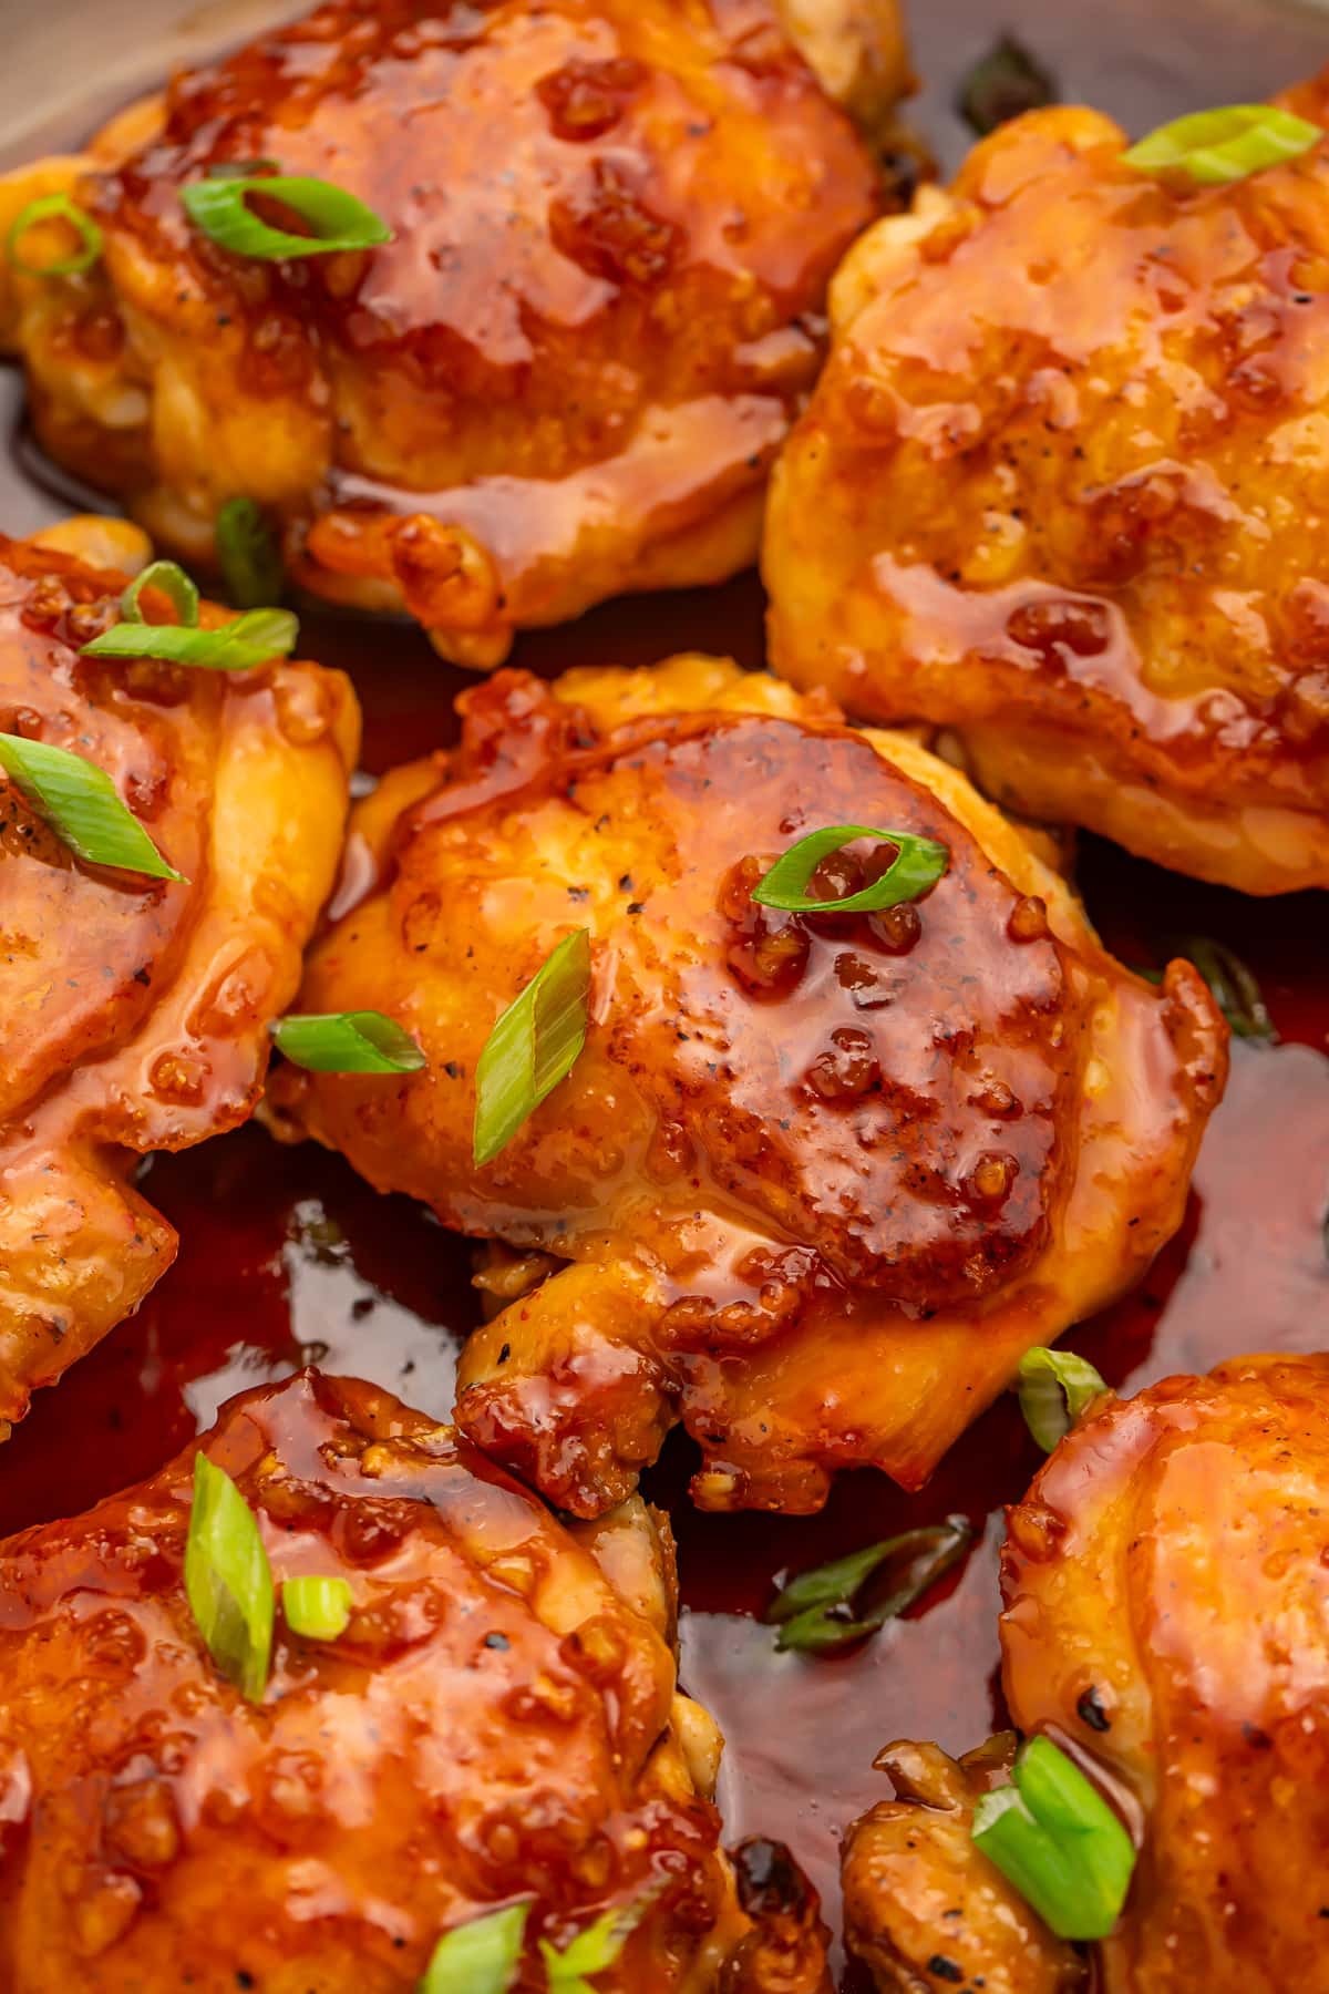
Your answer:
[[[566,935],[494,1023],[476,1063],[476,1164],[490,1163],[564,1081],[586,1045],[590,929]]]

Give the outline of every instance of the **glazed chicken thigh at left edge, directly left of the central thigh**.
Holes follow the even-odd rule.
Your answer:
[[[84,566],[80,552],[102,566]],[[331,889],[359,744],[339,672],[80,658],[143,534],[0,538],[0,732],[104,768],[189,883],[84,865],[0,776],[0,1422],[175,1256],[153,1149],[243,1121]],[[209,612],[205,610],[205,616]]]

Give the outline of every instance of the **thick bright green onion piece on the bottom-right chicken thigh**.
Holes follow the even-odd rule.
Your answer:
[[[1106,1938],[1136,1850],[1084,1773],[1050,1739],[1020,1747],[1014,1785],[974,1807],[974,1846],[1058,1938]]]

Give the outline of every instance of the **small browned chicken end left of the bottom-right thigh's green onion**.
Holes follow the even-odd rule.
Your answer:
[[[968,1757],[901,1741],[873,1761],[895,1785],[845,1836],[845,1946],[881,1994],[1080,1994],[1084,1960],[970,1842],[978,1795],[1004,1785],[1014,1737]]]

